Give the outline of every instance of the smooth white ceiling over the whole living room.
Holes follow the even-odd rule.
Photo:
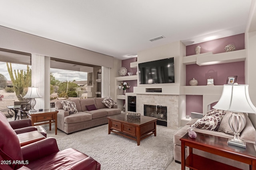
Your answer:
[[[119,59],[244,33],[251,0],[0,0],[0,25]],[[164,36],[164,39],[149,41]]]

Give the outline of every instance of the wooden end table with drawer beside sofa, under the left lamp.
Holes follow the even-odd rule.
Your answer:
[[[55,109],[44,109],[43,111],[26,111],[28,117],[31,119],[32,126],[49,124],[49,130],[52,130],[52,123],[55,123],[55,135],[57,135],[57,113]],[[44,122],[48,121],[48,122]],[[44,122],[44,123],[40,123]],[[37,124],[35,124],[37,123]]]

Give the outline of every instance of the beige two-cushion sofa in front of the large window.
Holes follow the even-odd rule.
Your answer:
[[[60,101],[55,102],[55,109],[59,111],[57,113],[58,129],[70,134],[108,123],[107,117],[120,114],[121,109],[118,109],[116,104],[108,108],[102,103],[104,99],[105,98],[86,98],[67,100],[76,104],[78,113],[72,114],[70,114],[69,111],[64,111]],[[89,111],[87,107],[92,105],[96,108]]]

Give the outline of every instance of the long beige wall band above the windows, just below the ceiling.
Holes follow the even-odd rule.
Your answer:
[[[0,26],[0,48],[98,66],[113,67],[114,57]]]

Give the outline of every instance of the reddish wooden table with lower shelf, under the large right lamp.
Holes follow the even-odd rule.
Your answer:
[[[243,149],[229,146],[227,144],[228,138],[198,132],[195,139],[190,138],[188,133],[186,133],[186,135],[180,138],[180,141],[182,170],[185,170],[185,166],[198,170],[240,170],[234,166],[193,154],[193,148],[249,164],[250,170],[256,170],[256,151],[252,143],[246,143],[246,149]],[[185,146],[189,147],[187,158],[185,158]]]

